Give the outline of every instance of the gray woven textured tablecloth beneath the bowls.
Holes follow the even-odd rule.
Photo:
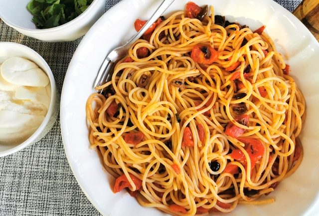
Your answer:
[[[107,0],[106,10],[120,0]],[[276,0],[292,11],[301,0]],[[53,71],[61,92],[64,75],[81,38],[47,43],[24,36],[0,21],[0,41],[37,51]],[[0,158],[0,216],[99,216],[78,186],[65,157],[60,119],[39,142]]]

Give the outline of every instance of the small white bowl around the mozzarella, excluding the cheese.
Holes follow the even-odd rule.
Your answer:
[[[48,112],[37,130],[22,143],[0,144],[0,157],[15,153],[32,143],[42,139],[54,125],[58,116],[58,103],[56,103],[55,81],[52,71],[46,61],[33,49],[12,42],[0,42],[0,57],[24,57],[36,63],[49,77],[51,84],[51,99]]]

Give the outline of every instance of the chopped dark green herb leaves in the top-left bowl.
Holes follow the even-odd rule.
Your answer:
[[[93,0],[31,0],[27,8],[37,28],[52,28],[80,15]]]

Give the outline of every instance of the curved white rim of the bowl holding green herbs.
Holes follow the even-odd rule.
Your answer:
[[[85,14],[87,14],[91,10],[93,10],[93,7],[95,7],[95,5],[97,4],[96,3],[97,1],[99,1],[99,0],[93,0],[92,3],[88,6],[88,8],[86,8],[86,10],[84,10],[84,12],[82,12],[79,16],[75,17],[71,21],[68,21],[67,23],[64,23],[63,25],[59,25],[59,26],[52,27],[52,28],[31,29],[31,28],[21,27],[19,25],[16,25],[16,24],[12,23],[11,21],[7,20],[5,17],[1,16],[1,11],[0,11],[0,17],[7,25],[9,25],[11,27],[14,27],[14,28],[17,28],[17,29],[24,30],[24,31],[32,32],[32,33],[35,33],[35,34],[55,32],[55,31],[59,31],[59,30],[62,30],[64,28],[69,27],[69,25],[72,25],[74,22],[78,22],[78,21],[84,19],[85,18]],[[26,8],[26,10],[27,10],[27,8]]]

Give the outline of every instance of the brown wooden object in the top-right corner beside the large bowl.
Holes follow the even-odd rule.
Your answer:
[[[319,0],[303,0],[293,13],[319,41]]]

